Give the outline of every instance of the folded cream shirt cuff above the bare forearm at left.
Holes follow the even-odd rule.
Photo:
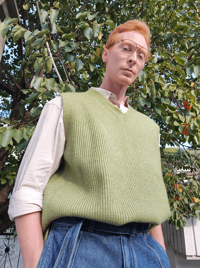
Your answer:
[[[11,196],[8,215],[11,220],[15,220],[15,217],[42,211],[43,204],[44,194],[42,191],[24,188],[13,193]]]

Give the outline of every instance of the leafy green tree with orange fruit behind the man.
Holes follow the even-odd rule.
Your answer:
[[[107,36],[116,25],[130,19],[144,20],[152,34],[153,58],[127,95],[134,109],[150,116],[161,128],[170,222],[178,228],[185,225],[182,216],[200,220],[199,180],[194,174],[200,168],[199,2],[18,1],[21,22],[6,18],[0,25],[1,35],[7,35],[0,65],[0,233],[12,224],[6,214],[8,196],[42,107],[59,92],[86,91],[100,85],[105,72],[101,53]],[[185,142],[196,152],[193,156]],[[189,186],[183,181],[187,174],[176,175],[175,165],[168,161],[166,145],[182,145],[187,152],[176,165],[193,172]],[[174,188],[177,182],[182,192]]]

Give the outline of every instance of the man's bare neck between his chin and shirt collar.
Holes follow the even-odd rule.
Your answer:
[[[114,93],[119,103],[121,103],[122,100],[124,99],[127,87],[128,86],[121,85],[118,83],[113,83],[113,81],[110,81],[110,80],[106,81],[105,78],[103,82],[101,83],[101,85],[99,86],[99,88],[103,88],[107,91]]]

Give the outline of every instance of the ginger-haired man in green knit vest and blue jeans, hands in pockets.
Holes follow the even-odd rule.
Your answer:
[[[169,267],[159,128],[125,97],[151,58],[149,43],[144,22],[119,25],[100,87],[45,105],[9,208],[25,268]]]

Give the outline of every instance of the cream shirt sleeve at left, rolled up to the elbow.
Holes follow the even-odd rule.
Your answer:
[[[65,143],[63,103],[58,96],[44,106],[23,156],[10,198],[11,220],[42,210],[45,186],[61,163]]]

